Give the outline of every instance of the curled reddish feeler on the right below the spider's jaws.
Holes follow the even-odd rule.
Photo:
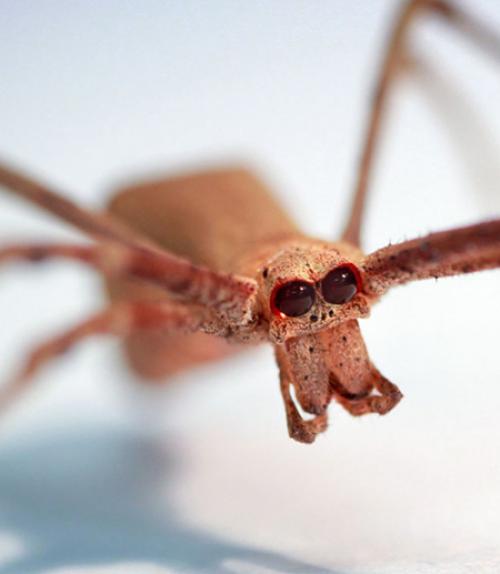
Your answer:
[[[373,387],[379,392],[377,395],[367,393],[363,396],[347,396],[342,391],[337,391],[335,382],[332,381],[335,400],[351,413],[351,415],[361,416],[369,413],[385,415],[403,398],[403,394],[398,387],[381,375],[373,366],[372,376]]]

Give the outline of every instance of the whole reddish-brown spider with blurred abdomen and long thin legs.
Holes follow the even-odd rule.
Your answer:
[[[53,257],[80,261],[103,275],[111,301],[103,311],[37,347],[1,388],[0,409],[19,397],[46,362],[95,334],[122,338],[130,365],[155,380],[220,358],[243,344],[270,342],[289,434],[301,442],[310,443],[325,430],[333,399],[353,415],[392,409],[402,395],[370,361],[358,319],[367,317],[370,307],[396,285],[500,267],[499,219],[432,233],[368,255],[359,247],[387,94],[409,60],[407,30],[424,11],[500,60],[498,37],[450,2],[404,4],[379,74],[352,209],[340,241],[307,237],[267,187],[243,169],[141,182],[116,194],[107,213],[95,213],[0,165],[0,185],[7,191],[95,241],[13,244],[0,248],[0,262]],[[345,301],[329,303],[323,280],[342,269],[350,270],[354,291]],[[310,306],[286,314],[276,305],[277,290],[298,281],[307,284]],[[303,416],[301,409],[310,416]]]

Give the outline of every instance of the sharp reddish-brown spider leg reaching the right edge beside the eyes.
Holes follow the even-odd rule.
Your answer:
[[[395,285],[500,267],[500,219],[431,233],[368,255],[363,290],[379,296]]]

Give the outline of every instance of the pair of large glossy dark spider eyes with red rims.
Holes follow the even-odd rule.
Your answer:
[[[330,271],[320,283],[323,299],[341,305],[350,301],[358,291],[358,281],[348,266]],[[273,306],[287,317],[300,317],[314,304],[316,291],[307,281],[289,281],[276,291]]]

